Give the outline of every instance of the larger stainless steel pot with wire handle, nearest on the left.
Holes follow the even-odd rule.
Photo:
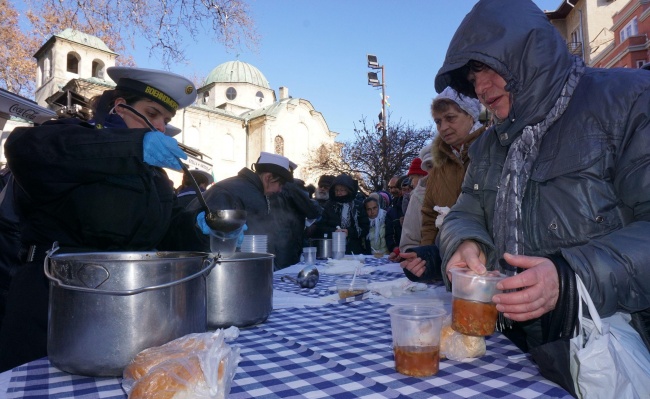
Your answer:
[[[50,362],[73,374],[121,376],[143,349],[205,332],[208,255],[50,253]]]

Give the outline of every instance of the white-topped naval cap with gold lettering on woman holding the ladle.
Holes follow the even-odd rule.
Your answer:
[[[194,83],[175,73],[131,67],[109,67],[106,72],[116,83],[116,89],[141,94],[170,112],[175,113],[196,100]]]

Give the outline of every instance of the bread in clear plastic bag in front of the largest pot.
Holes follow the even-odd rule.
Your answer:
[[[240,360],[226,342],[238,336],[230,327],[145,349],[124,369],[122,388],[129,399],[226,398]]]

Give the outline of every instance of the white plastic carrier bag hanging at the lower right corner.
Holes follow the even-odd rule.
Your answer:
[[[571,376],[579,398],[650,397],[650,353],[630,315],[601,319],[587,288],[576,276],[580,333],[570,342]],[[591,320],[582,316],[582,302]]]

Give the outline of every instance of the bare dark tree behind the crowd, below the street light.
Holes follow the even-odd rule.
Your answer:
[[[406,173],[413,158],[433,138],[432,132],[433,126],[416,128],[401,120],[389,124],[385,169],[381,146],[383,132],[378,126],[368,127],[364,117],[359,120],[359,126],[355,124],[353,142],[321,146],[316,153],[310,154],[305,171],[315,177],[347,173],[359,181],[364,192],[377,191],[392,176]]]

